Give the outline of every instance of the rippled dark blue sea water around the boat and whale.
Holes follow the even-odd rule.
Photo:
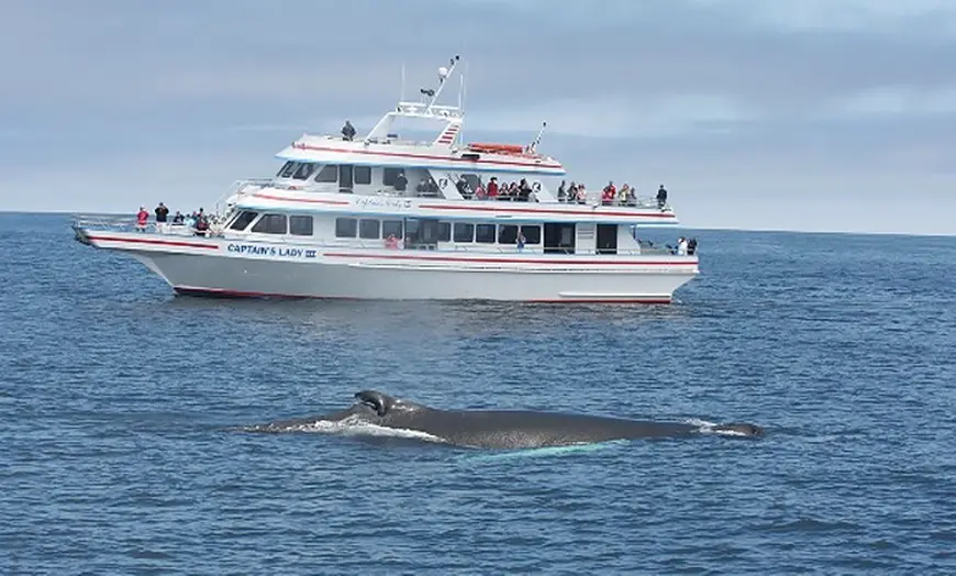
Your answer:
[[[670,307],[223,301],[2,214],[0,573],[956,571],[956,239],[694,234]],[[223,430],[362,388],[768,436]]]

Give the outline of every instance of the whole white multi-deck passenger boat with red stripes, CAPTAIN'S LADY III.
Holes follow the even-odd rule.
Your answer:
[[[437,103],[458,63],[365,136],[349,123],[302,135],[274,177],[234,182],[205,230],[78,215],[76,239],[182,295],[668,303],[699,274],[697,255],[636,240],[678,224],[669,204],[559,201],[566,170],[537,152],[542,132],[530,145],[463,142],[460,95]],[[402,139],[397,121],[430,123],[434,137]],[[474,193],[492,178],[531,193]]]

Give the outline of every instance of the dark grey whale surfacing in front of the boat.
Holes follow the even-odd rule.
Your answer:
[[[352,406],[337,412],[256,424],[246,430],[289,432],[320,422],[370,424],[414,432],[441,443],[470,448],[574,446],[708,433],[748,439],[765,434],[762,427],[744,422],[693,424],[533,410],[444,410],[378,390],[356,392]]]

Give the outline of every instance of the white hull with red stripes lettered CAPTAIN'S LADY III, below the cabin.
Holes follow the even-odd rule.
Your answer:
[[[668,303],[698,274],[693,256],[460,254],[330,248],[249,255],[227,241],[91,236],[127,252],[177,292],[370,300]],[[159,244],[159,243],[165,244]],[[168,245],[171,243],[181,245]],[[201,247],[200,247],[201,246]]]

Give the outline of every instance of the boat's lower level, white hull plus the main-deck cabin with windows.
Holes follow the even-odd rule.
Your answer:
[[[245,217],[245,228],[269,222],[254,234],[129,221],[77,221],[74,230],[77,240],[126,253],[177,292],[194,295],[663,303],[699,274],[696,256],[647,250],[616,224],[443,226],[394,217],[291,224],[302,214],[267,215],[279,214]],[[318,233],[324,220],[332,237]],[[376,237],[359,237],[363,229]]]

